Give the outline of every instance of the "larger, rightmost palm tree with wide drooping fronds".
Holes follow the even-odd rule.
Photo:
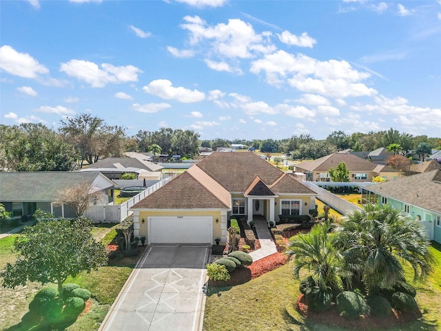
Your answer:
[[[336,248],[369,293],[403,279],[403,261],[413,268],[414,280],[424,279],[433,268],[424,228],[390,205],[367,204],[343,217],[335,232]]]

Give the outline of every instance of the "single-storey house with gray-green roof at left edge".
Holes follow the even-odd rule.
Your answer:
[[[100,172],[0,172],[0,203],[12,217],[27,219],[35,210],[52,212],[55,217],[75,217],[68,205],[57,203],[59,192],[82,183],[99,190],[97,204],[113,204],[114,183]]]

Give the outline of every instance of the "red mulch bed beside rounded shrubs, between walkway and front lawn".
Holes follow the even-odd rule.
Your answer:
[[[266,272],[277,269],[285,263],[287,263],[286,255],[277,252],[253,262],[252,265],[245,268],[237,268],[231,272],[231,278],[228,281],[213,281],[212,279],[209,279],[208,285],[215,288],[221,288],[243,284],[265,274]]]

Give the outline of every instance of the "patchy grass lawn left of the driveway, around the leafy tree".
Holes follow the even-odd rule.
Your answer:
[[[107,245],[116,236],[115,224],[95,224],[92,233],[96,239],[101,238],[101,243]],[[19,234],[0,239],[0,270],[6,263],[15,261],[12,244]],[[78,283],[81,288],[86,288],[92,293],[90,310],[66,330],[92,331],[98,330],[116,296],[132,272],[138,257],[124,258],[116,261],[118,265],[107,265],[90,273],[81,272],[74,279],[69,278],[67,283]],[[115,264],[115,263],[114,263]],[[48,286],[51,284],[46,284]],[[54,285],[54,284],[52,284]],[[54,285],[55,286],[55,285]],[[21,321],[21,317],[28,312],[28,305],[34,294],[42,288],[40,283],[28,283],[15,289],[0,287],[0,330],[25,331],[14,327]]]

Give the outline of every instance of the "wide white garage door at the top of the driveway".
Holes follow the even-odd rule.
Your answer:
[[[212,217],[149,217],[149,243],[212,243]]]

